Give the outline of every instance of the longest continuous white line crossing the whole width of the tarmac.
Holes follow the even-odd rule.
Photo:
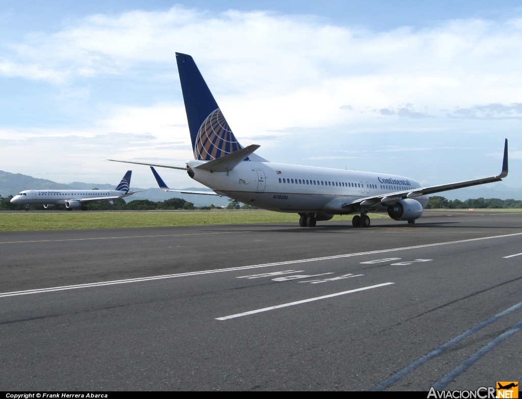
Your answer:
[[[480,238],[468,238],[465,240],[446,241],[444,243],[434,243],[434,244],[414,245],[411,247],[399,247],[399,248],[390,248],[390,249],[379,249],[379,250],[375,250],[375,251],[346,253],[345,255],[325,256],[325,257],[321,257],[321,258],[299,259],[299,260],[291,260],[291,261],[275,262],[275,263],[263,263],[263,264],[255,264],[252,266],[239,266],[239,267],[235,267],[235,268],[212,269],[212,270],[205,270],[205,271],[200,271],[200,272],[164,274],[164,275],[159,275],[159,276],[138,277],[136,279],[112,280],[112,281],[104,281],[104,282],[98,282],[98,283],[86,283],[86,284],[64,285],[64,286],[50,287],[50,288],[27,289],[25,291],[12,291],[12,292],[0,293],[0,298],[4,298],[4,297],[8,297],[8,296],[17,296],[17,295],[40,294],[40,293],[44,293],[44,292],[63,291],[65,289],[90,288],[90,287],[100,287],[103,285],[139,283],[142,281],[174,279],[176,277],[196,276],[196,275],[200,275],[200,274],[223,273],[223,272],[236,271],[236,270],[268,268],[271,266],[281,266],[281,265],[286,265],[286,264],[316,262],[316,261],[320,261],[320,260],[351,258],[351,257],[361,256],[361,255],[373,255],[374,253],[405,251],[408,249],[428,248],[428,247],[436,247],[436,246],[440,246],[440,245],[462,244],[462,243],[470,243],[472,241],[488,240],[488,239],[493,239],[493,238],[514,237],[514,236],[519,236],[519,235],[522,235],[522,233],[503,234],[503,235],[499,235],[499,236],[489,236],[489,237],[480,237]],[[130,238],[134,238],[134,237],[130,237]],[[49,240],[49,241],[52,241],[52,240]],[[0,243],[0,244],[3,244],[3,243]]]

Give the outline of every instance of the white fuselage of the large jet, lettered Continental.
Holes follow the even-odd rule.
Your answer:
[[[421,187],[413,179],[381,173],[325,167],[243,161],[230,172],[196,168],[205,161],[189,160],[193,179],[240,202],[258,208],[293,213],[356,213],[347,202]],[[424,208],[427,197],[415,198]],[[384,205],[374,211],[384,211]],[[357,211],[358,212],[358,211]]]

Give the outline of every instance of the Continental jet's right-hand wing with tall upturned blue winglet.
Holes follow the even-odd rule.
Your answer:
[[[478,186],[481,184],[500,182],[506,176],[507,176],[507,139],[504,142],[504,159],[502,161],[502,172],[500,175],[496,175],[496,176],[492,176],[492,177],[484,177],[481,179],[466,180],[465,182],[443,184],[443,185],[431,186],[431,187],[422,187],[422,188],[416,188],[413,190],[390,192],[390,193],[382,194],[382,195],[378,195],[378,196],[360,198],[358,200],[342,204],[341,207],[348,208],[353,205],[360,205],[361,207],[365,207],[365,208],[374,208],[381,204],[390,205],[390,204],[394,204],[395,202],[397,202],[398,200],[403,199],[403,198],[416,198],[416,197],[420,197],[423,195],[435,194],[436,192],[443,192],[443,191],[448,191],[448,190],[455,190],[457,188],[465,188],[465,187],[471,187],[471,186]]]

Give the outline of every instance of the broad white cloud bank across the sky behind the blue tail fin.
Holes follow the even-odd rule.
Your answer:
[[[335,157],[321,157],[339,148],[374,146],[377,137],[422,148],[409,143],[445,132],[518,132],[521,47],[522,19],[516,17],[373,32],[313,17],[210,14],[182,6],[93,15],[64,22],[51,34],[0,43],[0,79],[14,87],[6,97],[16,97],[20,90],[13,82],[24,79],[30,90],[53,88],[42,94],[42,104],[61,93],[52,123],[66,113],[74,120],[76,108],[86,103],[93,117],[71,126],[39,124],[38,116],[48,110],[35,102],[30,105],[37,122],[23,124],[20,118],[18,125],[0,125],[0,138],[19,140],[3,150],[13,167],[25,167],[17,163],[19,154],[37,154],[33,170],[41,170],[43,146],[56,166],[43,164],[58,175],[107,173],[100,162],[109,153],[184,162],[192,149],[174,55],[179,51],[194,56],[242,144],[255,140],[262,156],[273,161],[320,160],[318,165],[336,167]],[[84,103],[76,103],[78,98]],[[118,140],[111,141],[116,137],[117,146]],[[440,155],[446,156],[443,150]],[[373,170],[377,162],[385,161],[361,161],[358,170]]]

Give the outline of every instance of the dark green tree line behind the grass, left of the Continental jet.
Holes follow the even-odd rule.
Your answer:
[[[25,205],[11,203],[13,196],[0,196],[0,211],[23,211],[26,209]],[[181,198],[171,198],[165,201],[150,201],[150,200],[133,200],[125,202],[123,199],[115,199],[111,202],[104,203],[88,203],[85,204],[86,210],[92,211],[144,211],[144,210],[179,210],[179,209],[222,209],[210,204],[206,207],[195,207],[194,203],[185,201]],[[42,205],[29,205],[29,209],[33,211],[43,210]],[[78,208],[79,210],[80,208]],[[241,204],[238,201],[229,200],[227,209],[258,209],[250,205]],[[65,210],[65,205],[57,205],[51,210]]]

